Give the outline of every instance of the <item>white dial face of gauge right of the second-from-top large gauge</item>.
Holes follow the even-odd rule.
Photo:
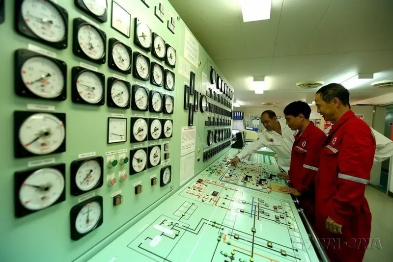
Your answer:
[[[93,72],[82,72],[78,76],[76,85],[79,95],[87,103],[97,104],[102,100],[104,86],[101,79]]]

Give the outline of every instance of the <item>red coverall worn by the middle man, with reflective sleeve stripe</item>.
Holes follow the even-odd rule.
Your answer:
[[[296,134],[288,172],[291,186],[302,193],[298,198],[312,226],[315,217],[315,177],[325,140],[326,134],[313,122],[302,134]]]

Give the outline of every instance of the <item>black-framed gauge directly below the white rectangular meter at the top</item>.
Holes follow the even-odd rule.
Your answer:
[[[109,39],[109,50],[108,66],[123,74],[131,74],[131,48],[111,38]]]

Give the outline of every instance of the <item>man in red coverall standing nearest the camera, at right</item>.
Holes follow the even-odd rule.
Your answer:
[[[375,138],[350,109],[349,92],[342,85],[321,87],[315,105],[334,123],[315,180],[315,230],[332,262],[362,262],[371,233],[365,186]]]

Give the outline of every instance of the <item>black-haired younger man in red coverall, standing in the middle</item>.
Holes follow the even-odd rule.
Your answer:
[[[292,146],[288,177],[280,175],[289,178],[292,187],[283,186],[280,190],[298,196],[307,219],[314,226],[315,176],[326,135],[309,120],[310,114],[310,106],[303,101],[292,102],[284,108],[286,124],[298,132]]]

